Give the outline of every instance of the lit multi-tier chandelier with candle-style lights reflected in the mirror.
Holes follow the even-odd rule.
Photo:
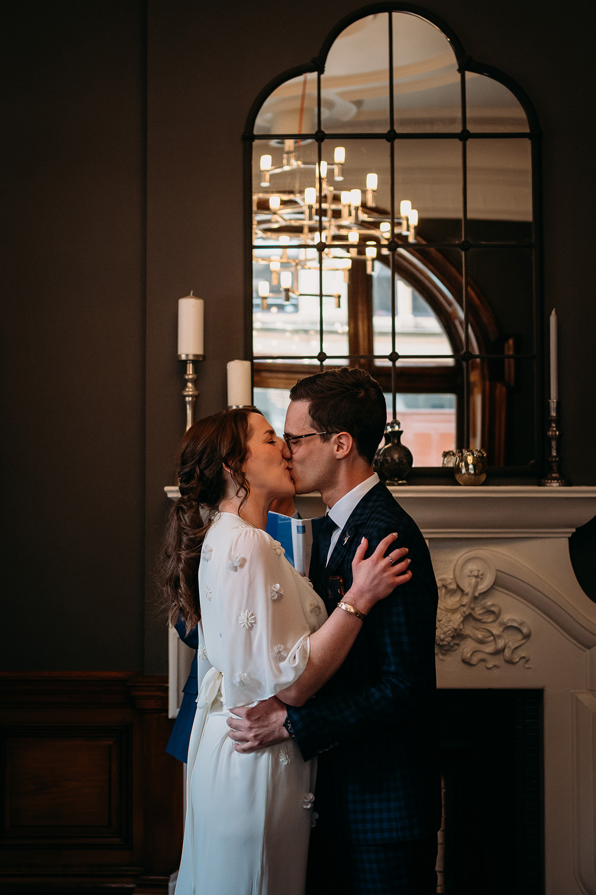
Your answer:
[[[298,271],[318,269],[319,257],[323,270],[342,270],[348,283],[352,260],[358,254],[364,254],[366,273],[372,274],[377,253],[388,255],[395,250],[398,235],[416,242],[418,212],[409,200],[399,202],[399,217],[391,220],[386,209],[376,204],[376,173],[366,175],[364,190],[343,188],[345,147],[336,146],[333,162],[322,160],[319,169],[318,163],[299,158],[299,143],[283,142],[281,166],[273,166],[271,155],[262,155],[259,162],[260,187],[265,192],[253,193],[253,246],[258,247],[254,260],[269,264],[271,285],[280,288],[279,294],[270,295],[269,282],[259,282],[263,311],[270,297],[289,303],[291,297],[304,294],[298,291]],[[287,183],[292,173],[293,189],[274,189],[276,179]],[[340,307],[339,294],[323,297],[332,297]]]

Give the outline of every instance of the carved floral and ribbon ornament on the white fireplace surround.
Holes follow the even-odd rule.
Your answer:
[[[499,668],[491,657],[502,655],[509,665],[521,661],[526,669],[531,667],[529,654],[521,652],[532,635],[530,626],[518,618],[502,617],[500,606],[484,596],[496,574],[486,555],[466,553],[457,560],[453,578],[438,580],[435,652],[441,660],[461,646],[466,665],[483,662],[487,669]]]

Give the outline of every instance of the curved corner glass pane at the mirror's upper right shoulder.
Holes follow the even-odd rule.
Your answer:
[[[488,133],[528,131],[524,108],[511,90],[485,74],[466,72],[468,131]]]

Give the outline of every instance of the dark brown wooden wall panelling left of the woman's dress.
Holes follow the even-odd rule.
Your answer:
[[[166,678],[0,673],[0,891],[167,892],[183,826],[167,709]]]

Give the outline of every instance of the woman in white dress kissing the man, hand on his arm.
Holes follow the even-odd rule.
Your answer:
[[[283,441],[260,413],[233,409],[195,423],[179,451],[180,499],[164,541],[172,622],[198,625],[200,666],[189,745],[187,816],[176,895],[302,895],[316,819],[315,761],[288,736],[239,754],[229,707],[276,695],[302,705],[339,669],[374,604],[411,577],[384,557],[390,534],[365,559],[335,609],[265,533],[267,511],[294,485]],[[201,512],[203,515],[201,515]],[[208,517],[207,517],[208,516]],[[206,520],[206,522],[204,521]]]

